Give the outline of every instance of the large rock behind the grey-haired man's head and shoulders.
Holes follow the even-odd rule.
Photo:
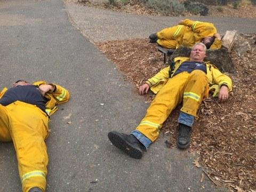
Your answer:
[[[170,60],[173,61],[175,57],[189,57],[191,49],[186,46],[180,46],[173,52]],[[213,65],[218,67],[222,72],[235,73],[234,63],[230,58],[228,49],[221,46],[220,49],[207,50],[205,61],[210,61]]]

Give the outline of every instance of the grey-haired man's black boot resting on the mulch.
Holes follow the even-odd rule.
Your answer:
[[[185,124],[179,124],[179,136],[177,140],[177,145],[179,148],[186,149],[190,142],[190,132],[191,127]]]

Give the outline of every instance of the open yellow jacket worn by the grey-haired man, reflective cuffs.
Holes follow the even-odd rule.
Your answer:
[[[188,57],[177,57],[174,59],[175,65],[172,75],[175,73],[175,71],[179,68],[181,63],[189,61]],[[228,86],[228,91],[232,90],[232,81],[231,79],[225,75],[222,74],[217,67],[212,65],[209,61],[205,62],[206,68],[207,68],[207,78],[208,83],[210,86],[210,90],[214,91],[213,97],[218,95],[219,89],[222,84],[225,84]],[[155,94],[158,93],[159,90],[162,89],[162,87],[165,85],[167,80],[169,78],[172,78],[169,76],[169,70],[170,66],[162,69],[159,71],[154,77],[149,78],[146,83],[150,86],[150,90],[153,91]]]

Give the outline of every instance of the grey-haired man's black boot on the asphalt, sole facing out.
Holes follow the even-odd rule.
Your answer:
[[[128,135],[124,133],[118,133],[116,131],[110,131],[108,133],[108,139],[126,154],[132,158],[140,159],[143,154],[143,145],[141,142],[134,137],[134,135]]]

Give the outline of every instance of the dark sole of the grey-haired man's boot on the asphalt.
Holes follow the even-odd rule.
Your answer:
[[[138,150],[131,146],[131,143],[124,140],[117,132],[111,131],[108,133],[108,139],[111,143],[116,146],[118,149],[124,151],[132,158],[140,159],[142,157],[142,151]]]

